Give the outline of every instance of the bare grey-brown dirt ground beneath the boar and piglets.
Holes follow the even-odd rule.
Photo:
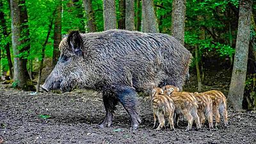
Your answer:
[[[142,123],[131,131],[129,116],[118,106],[113,126],[100,129],[105,111],[99,93],[20,92],[0,88],[0,143],[256,143],[256,113],[228,111],[228,128],[184,131],[152,129],[150,101],[140,100]],[[223,121],[221,121],[223,122]],[[194,126],[195,127],[195,126]]]

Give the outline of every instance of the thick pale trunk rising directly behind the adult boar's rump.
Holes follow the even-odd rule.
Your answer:
[[[184,45],[186,0],[172,2],[172,36]]]

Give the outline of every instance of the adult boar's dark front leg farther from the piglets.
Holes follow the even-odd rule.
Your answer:
[[[103,102],[106,109],[106,117],[103,122],[100,124],[100,127],[110,127],[113,120],[113,113],[115,106],[118,102],[118,99],[111,93],[103,93]]]

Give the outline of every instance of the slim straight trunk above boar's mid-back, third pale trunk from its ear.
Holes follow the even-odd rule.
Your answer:
[[[125,29],[134,31],[134,0],[125,0]]]

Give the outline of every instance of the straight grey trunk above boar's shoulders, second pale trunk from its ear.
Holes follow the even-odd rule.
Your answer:
[[[104,31],[116,29],[116,6],[115,0],[103,1]]]

